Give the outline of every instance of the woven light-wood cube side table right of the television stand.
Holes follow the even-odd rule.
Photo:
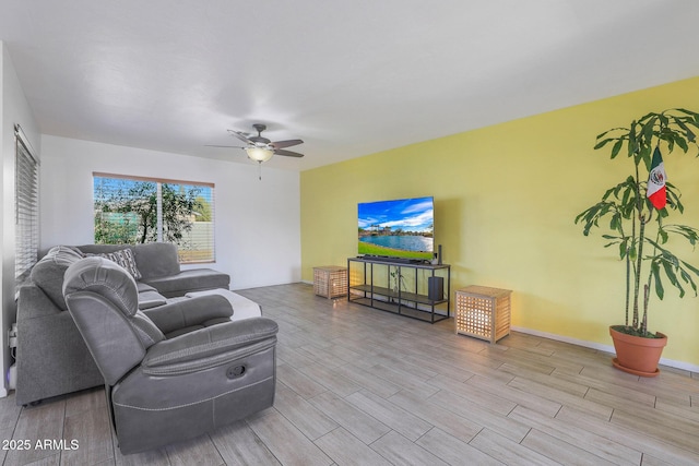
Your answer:
[[[457,333],[495,343],[510,334],[509,289],[467,286],[455,291]]]

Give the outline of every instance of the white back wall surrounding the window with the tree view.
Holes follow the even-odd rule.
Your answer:
[[[299,175],[252,164],[42,136],[42,250],[93,237],[93,172],[215,184],[216,263],[242,289],[300,280]],[[185,268],[185,266],[183,266]]]

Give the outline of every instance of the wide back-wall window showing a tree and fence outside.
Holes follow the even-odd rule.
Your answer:
[[[214,186],[93,174],[95,244],[177,244],[181,263],[213,262]]]

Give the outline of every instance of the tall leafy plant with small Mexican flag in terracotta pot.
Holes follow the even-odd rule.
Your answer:
[[[662,160],[663,155],[676,148],[685,153],[699,148],[697,132],[699,113],[671,109],[648,113],[628,128],[614,128],[597,135],[594,148],[611,146],[612,158],[628,157],[631,174],[576,217],[585,236],[593,227],[605,228],[605,248],[614,247],[625,262],[626,322],[612,325],[609,333],[616,350],[614,366],[637,375],[659,373],[657,362],[667,342],[664,334],[648,330],[651,292],[662,300],[670,284],[680,297],[685,296],[685,288],[697,295],[695,277],[699,277],[699,270],[670,248],[673,237],[696,246],[699,230],[671,223],[671,214],[682,214],[684,205],[678,188],[667,181]]]

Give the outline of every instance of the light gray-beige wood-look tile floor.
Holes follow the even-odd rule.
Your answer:
[[[0,399],[3,464],[699,464],[697,373],[638,378],[608,354],[521,333],[490,345],[457,335],[452,320],[329,300],[307,284],[238,292],[280,325],[274,407],[122,456],[103,390],[29,408],[11,395]]]

